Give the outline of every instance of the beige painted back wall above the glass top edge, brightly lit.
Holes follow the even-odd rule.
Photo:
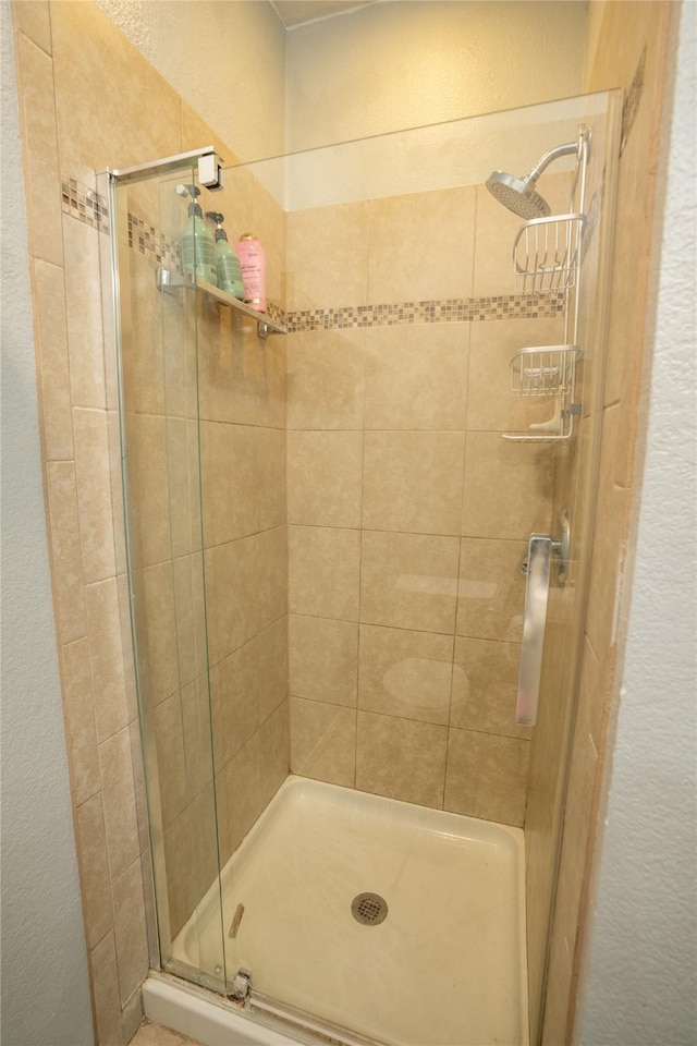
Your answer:
[[[376,3],[288,35],[289,150],[582,89],[587,4]]]

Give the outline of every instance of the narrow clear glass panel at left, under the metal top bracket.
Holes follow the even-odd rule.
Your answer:
[[[194,171],[117,185],[129,572],[160,951],[224,986],[203,558],[197,303],[181,271]],[[201,898],[205,902],[201,903]],[[182,946],[185,941],[185,947]]]

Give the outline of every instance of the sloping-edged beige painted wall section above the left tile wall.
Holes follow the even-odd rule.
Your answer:
[[[267,0],[96,2],[241,159],[283,153],[285,32]]]

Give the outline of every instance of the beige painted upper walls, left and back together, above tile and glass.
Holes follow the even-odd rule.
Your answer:
[[[401,0],[288,34],[267,0],[96,2],[245,160],[582,85],[586,0]]]

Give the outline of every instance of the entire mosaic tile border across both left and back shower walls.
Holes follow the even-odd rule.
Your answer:
[[[63,211],[109,235],[109,208],[99,193],[74,178],[62,175]],[[129,211],[129,246],[154,263],[181,271],[181,245],[171,236]],[[388,305],[347,305],[285,313],[269,302],[268,315],[284,324],[289,333],[311,330],[348,330],[360,327],[400,327],[415,324],[489,323],[499,319],[538,319],[563,315],[564,295],[500,294],[489,297],[452,297]]]

